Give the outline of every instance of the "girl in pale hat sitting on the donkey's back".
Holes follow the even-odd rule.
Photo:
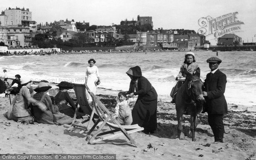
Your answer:
[[[175,87],[172,88],[172,92],[170,94],[172,97],[171,103],[175,103],[177,90],[183,84],[183,81],[179,79],[181,77],[186,77],[188,73],[195,75],[196,72],[200,77],[200,68],[199,65],[195,62],[195,54],[193,52],[186,52],[184,64],[180,67],[180,72],[175,79],[177,83],[175,84]]]

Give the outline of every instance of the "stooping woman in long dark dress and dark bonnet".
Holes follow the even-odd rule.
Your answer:
[[[131,112],[132,125],[144,127],[145,133],[154,133],[157,129],[157,92],[148,79],[142,76],[139,66],[131,67],[126,73],[131,78],[127,94],[130,97],[138,95]]]

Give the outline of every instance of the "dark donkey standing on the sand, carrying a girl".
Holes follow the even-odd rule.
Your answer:
[[[205,99],[202,94],[203,82],[198,75],[188,74],[184,84],[177,90],[176,95],[176,113],[177,113],[177,137],[180,139],[182,132],[182,118],[187,111],[190,113],[190,131],[192,141],[195,141],[195,128],[198,125],[197,114],[203,111]]]

